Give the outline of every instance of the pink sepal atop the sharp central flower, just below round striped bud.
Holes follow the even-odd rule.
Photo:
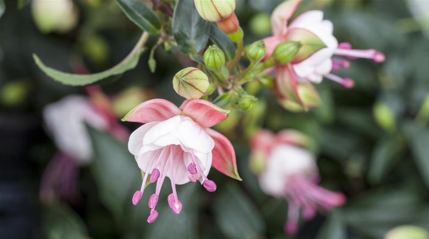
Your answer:
[[[185,101],[181,106],[182,115],[191,117],[203,128],[210,128],[228,118],[229,110],[225,110],[204,100]]]

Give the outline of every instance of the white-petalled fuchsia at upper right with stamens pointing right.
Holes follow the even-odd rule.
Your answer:
[[[276,85],[280,101],[290,101],[306,108],[304,92],[317,94],[309,84],[320,83],[323,78],[333,80],[346,88],[352,88],[354,81],[350,78],[341,78],[330,73],[332,70],[350,67],[350,61],[341,58],[332,58],[332,55],[346,56],[350,59],[369,58],[375,62],[383,62],[383,53],[374,49],[353,50],[349,43],[338,44],[332,35],[332,22],[323,19],[323,12],[319,10],[307,11],[298,16],[287,26],[298,5],[302,0],[287,0],[278,5],[271,15],[273,36],[264,38],[267,48],[265,58],[271,56],[279,43],[284,41],[299,41],[303,45],[292,62],[276,66]]]

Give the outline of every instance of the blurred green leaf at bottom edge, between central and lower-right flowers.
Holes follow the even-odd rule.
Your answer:
[[[262,215],[235,184],[227,185],[215,205],[216,222],[231,239],[256,239],[265,231]]]

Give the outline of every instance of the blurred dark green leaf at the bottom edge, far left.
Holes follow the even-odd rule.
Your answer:
[[[67,205],[53,205],[44,216],[44,230],[48,239],[85,239],[88,235],[85,223]]]

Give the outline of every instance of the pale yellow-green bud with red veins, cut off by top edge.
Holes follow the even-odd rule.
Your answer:
[[[219,22],[235,10],[235,0],[194,0],[200,16],[209,22]]]

